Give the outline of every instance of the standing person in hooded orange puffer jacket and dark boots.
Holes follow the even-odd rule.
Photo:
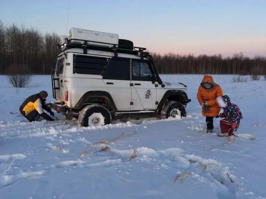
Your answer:
[[[221,87],[214,83],[212,76],[204,76],[199,86],[197,99],[202,106],[202,115],[206,116],[207,133],[213,130],[213,118],[219,114],[221,107],[216,98],[222,96]]]

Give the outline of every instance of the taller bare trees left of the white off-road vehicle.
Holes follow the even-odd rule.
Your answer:
[[[58,54],[56,33],[41,33],[37,28],[4,26],[0,20],[0,74],[9,67],[26,67],[30,74],[50,74]]]

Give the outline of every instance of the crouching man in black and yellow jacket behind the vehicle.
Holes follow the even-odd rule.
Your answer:
[[[48,93],[45,90],[40,91],[40,93],[29,96],[19,107],[21,114],[30,122],[37,121],[40,116],[49,121],[55,121],[49,115],[47,115],[44,110],[46,110],[50,115],[54,116],[50,108],[45,104],[46,97]]]

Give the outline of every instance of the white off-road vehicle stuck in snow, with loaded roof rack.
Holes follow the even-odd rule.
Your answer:
[[[71,28],[57,44],[51,108],[79,126],[112,118],[186,116],[187,86],[162,82],[152,56],[118,35]]]

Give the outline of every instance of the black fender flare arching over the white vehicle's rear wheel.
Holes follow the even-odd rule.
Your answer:
[[[88,91],[84,93],[84,95],[78,100],[78,103],[74,106],[74,109],[80,109],[83,107],[83,104],[86,102],[87,99],[91,97],[102,97],[107,100],[108,104],[110,105],[110,108],[113,111],[116,111],[116,105],[114,103],[114,100],[110,93],[106,91],[101,91],[101,90],[93,90],[93,91]]]

